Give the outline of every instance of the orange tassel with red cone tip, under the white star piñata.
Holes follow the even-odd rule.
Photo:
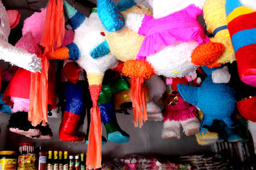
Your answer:
[[[101,85],[90,85],[90,94],[92,98],[91,123],[88,138],[88,148],[86,157],[86,166],[88,169],[97,169],[101,167],[101,120],[100,109],[97,104],[100,95]]]

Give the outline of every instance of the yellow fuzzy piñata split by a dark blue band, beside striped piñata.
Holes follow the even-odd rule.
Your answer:
[[[225,10],[226,0],[207,0],[204,5],[204,19],[207,25],[207,31],[213,34],[213,31],[223,25],[227,25],[227,17]],[[233,62],[236,60],[234,48],[229,36],[228,29],[217,32],[214,38],[210,38],[214,43],[222,43],[225,50],[221,57],[217,60],[219,63]]]

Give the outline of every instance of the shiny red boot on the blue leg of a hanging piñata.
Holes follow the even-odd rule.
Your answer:
[[[80,117],[80,115],[69,111],[64,112],[59,129],[59,138],[61,141],[84,141],[84,136],[76,132]]]

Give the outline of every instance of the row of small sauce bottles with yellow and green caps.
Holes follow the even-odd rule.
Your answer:
[[[47,170],[84,170],[85,169],[85,159],[84,153],[74,156],[69,155],[68,152],[64,152],[64,157],[62,157],[62,151],[54,151],[52,158],[52,151],[48,151],[47,159]],[[69,159],[68,159],[69,158]],[[39,157],[40,159],[40,157]]]

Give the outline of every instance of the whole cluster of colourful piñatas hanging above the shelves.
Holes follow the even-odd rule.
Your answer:
[[[256,143],[255,3],[148,4],[151,8],[134,0],[98,0],[88,17],[64,0],[49,0],[41,10],[26,4],[37,12],[26,18],[22,38],[12,46],[8,36],[20,13],[6,11],[0,1],[0,59],[15,65],[1,76],[1,111],[12,112],[8,129],[50,139],[48,114],[61,108],[59,139],[88,145],[88,169],[101,167],[107,141],[131,139],[116,112],[129,117],[133,110],[135,127],[147,120],[163,121],[163,139],[180,139],[182,126],[199,145],[211,145],[223,137],[228,142],[248,138],[237,130],[243,122],[234,119],[237,108]],[[198,21],[201,15],[206,29]],[[65,29],[65,16],[72,30]],[[79,128],[86,112],[84,134]]]

